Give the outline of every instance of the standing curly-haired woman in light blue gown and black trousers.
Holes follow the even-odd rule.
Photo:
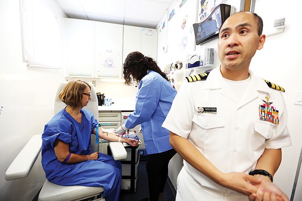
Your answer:
[[[126,85],[131,85],[132,79],[139,84],[135,110],[115,132],[121,134],[141,125],[149,155],[146,168],[150,198],[143,201],[162,201],[168,164],[176,152],[169,143],[169,130],[161,125],[171,108],[176,91],[157,63],[139,52],[132,52],[125,59],[124,79]]]

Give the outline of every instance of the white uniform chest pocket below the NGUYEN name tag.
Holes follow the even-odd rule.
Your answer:
[[[195,113],[191,131],[192,139],[204,150],[217,152],[223,146],[225,117]],[[220,139],[220,140],[217,140]]]

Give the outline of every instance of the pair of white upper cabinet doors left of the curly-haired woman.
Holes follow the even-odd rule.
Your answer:
[[[122,78],[123,25],[64,18],[66,76]]]

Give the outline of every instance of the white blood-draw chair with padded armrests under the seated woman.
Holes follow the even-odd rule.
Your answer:
[[[67,82],[60,83],[57,94],[55,98],[54,113],[57,114],[58,111],[65,107],[65,104],[58,100],[58,94]],[[94,118],[98,118],[98,104],[97,97],[94,89],[94,85],[89,83],[91,88],[91,100],[89,104],[85,107],[86,110],[90,110],[94,114]],[[59,102],[58,102],[59,101]],[[62,103],[62,104],[61,104]],[[19,178],[27,177],[35,164],[36,160],[41,151],[42,138],[41,134],[34,135],[29,140],[29,142],[24,146],[24,148],[19,152],[15,160],[10,164],[5,172],[5,180],[15,180]],[[96,144],[95,135],[92,139],[92,150],[99,151],[98,144]],[[98,138],[97,138],[98,139]],[[120,142],[110,142],[110,149],[112,151],[112,156],[114,160],[122,160],[127,158],[127,151]],[[94,148],[94,149],[93,149]],[[94,201],[105,201],[102,198],[102,193],[104,192],[103,187],[89,187],[89,186],[62,186],[55,183],[49,182],[47,179],[44,182],[38,196],[38,201],[81,201],[84,199],[92,198],[101,194],[101,198]]]

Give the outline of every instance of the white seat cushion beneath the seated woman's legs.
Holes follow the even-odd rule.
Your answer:
[[[46,180],[40,191],[38,201],[79,201],[97,196],[103,191],[103,187],[62,186]]]

